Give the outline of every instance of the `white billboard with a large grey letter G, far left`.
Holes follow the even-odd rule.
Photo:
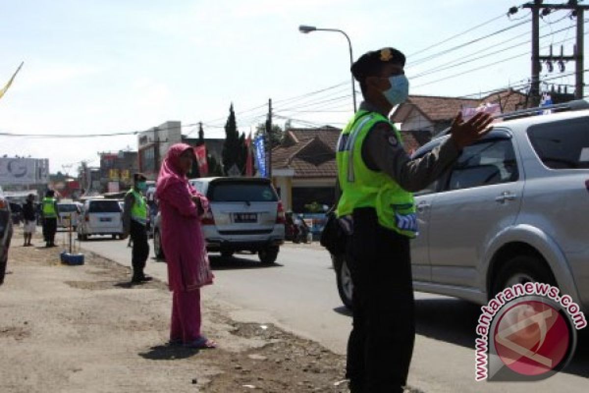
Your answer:
[[[47,184],[49,160],[0,157],[0,184]]]

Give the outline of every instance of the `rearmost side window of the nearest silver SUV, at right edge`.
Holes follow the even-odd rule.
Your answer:
[[[528,137],[548,168],[589,168],[589,118],[538,124],[528,128]]]

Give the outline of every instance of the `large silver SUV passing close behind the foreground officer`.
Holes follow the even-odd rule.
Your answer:
[[[589,310],[589,104],[552,108],[558,113],[503,115],[444,176],[415,194],[416,290],[482,304],[507,286],[537,281],[557,285]],[[348,267],[341,256],[333,263],[349,306]]]

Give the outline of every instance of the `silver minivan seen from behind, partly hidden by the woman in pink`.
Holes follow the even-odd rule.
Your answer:
[[[208,177],[190,184],[210,202],[202,220],[209,252],[230,257],[234,252],[257,252],[260,261],[276,261],[284,243],[284,209],[269,179],[259,177]],[[153,225],[154,252],[164,257],[161,247],[160,214]]]

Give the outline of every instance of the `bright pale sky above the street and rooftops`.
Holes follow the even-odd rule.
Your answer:
[[[333,32],[301,34],[300,24],[346,31],[354,58],[385,46],[405,52],[412,94],[458,96],[521,84],[530,75],[530,44],[525,43],[531,29],[525,22],[528,10],[512,17],[523,18],[519,20],[501,16],[520,4],[513,0],[3,0],[0,85],[21,61],[25,64],[0,100],[0,131],[115,133],[180,120],[203,121],[206,137],[223,137],[231,102],[240,130],[248,133],[263,121],[266,111],[250,108],[269,98],[280,116],[277,124],[294,118],[313,122],[295,120],[298,126],[340,126],[352,114],[352,90],[346,84],[348,44],[343,35]],[[491,22],[438,44],[487,21]],[[575,29],[558,30],[573,24],[564,11],[547,16],[541,22],[541,35],[547,35],[541,47],[558,43],[555,52],[560,52],[560,41],[568,40],[563,45],[565,54],[571,54]],[[422,62],[431,55],[436,56]],[[471,62],[456,64],[463,61]],[[494,62],[498,64],[491,65]],[[418,77],[431,70],[436,72]],[[554,78],[557,72],[543,70],[542,75],[553,78],[551,82],[574,84],[572,78]],[[574,71],[574,65],[567,64],[566,70]],[[285,101],[337,84],[342,85]],[[49,158],[53,172],[80,160],[95,160],[92,164],[97,165],[98,151],[127,146],[136,149],[137,137],[0,136],[0,155]],[[70,170],[74,172],[75,166]]]

